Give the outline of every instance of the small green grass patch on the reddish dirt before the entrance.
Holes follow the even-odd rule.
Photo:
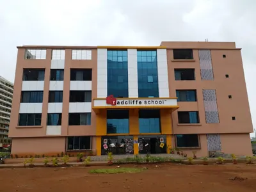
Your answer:
[[[115,174],[115,173],[139,173],[143,168],[112,168],[112,169],[97,169],[90,170],[89,173],[101,173],[101,174]]]

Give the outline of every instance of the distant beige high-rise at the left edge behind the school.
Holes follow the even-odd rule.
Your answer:
[[[12,95],[13,83],[0,76],[0,144],[8,143]]]

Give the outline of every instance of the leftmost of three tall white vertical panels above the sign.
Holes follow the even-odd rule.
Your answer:
[[[108,52],[107,49],[97,50],[97,97],[108,95]]]

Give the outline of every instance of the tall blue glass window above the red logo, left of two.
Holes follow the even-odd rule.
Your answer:
[[[128,97],[127,51],[108,50],[108,95]]]

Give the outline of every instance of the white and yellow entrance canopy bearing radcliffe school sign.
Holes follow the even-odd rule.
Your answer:
[[[99,113],[106,109],[178,109],[177,97],[162,98],[115,98],[109,95],[106,98],[93,99],[93,111]]]

